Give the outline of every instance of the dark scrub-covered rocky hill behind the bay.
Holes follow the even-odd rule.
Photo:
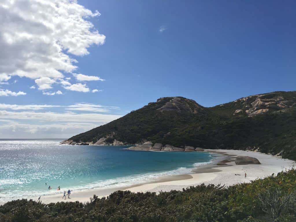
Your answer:
[[[208,149],[259,149],[296,160],[296,91],[272,92],[202,107],[165,97],[104,126],[73,136],[75,142],[145,141]]]

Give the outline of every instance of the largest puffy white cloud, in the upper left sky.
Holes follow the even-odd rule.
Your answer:
[[[11,75],[37,80],[73,72],[77,61],[69,54],[87,55],[92,44],[104,44],[105,36],[88,21],[99,15],[71,0],[2,0],[0,82]],[[50,83],[38,86],[52,88]]]

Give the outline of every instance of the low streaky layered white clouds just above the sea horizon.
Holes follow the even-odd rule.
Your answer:
[[[53,109],[56,111],[53,112]],[[118,109],[120,108],[88,103],[69,106],[0,104],[0,135],[4,138],[21,136],[66,139],[120,118],[120,115],[96,113]],[[87,113],[67,110],[87,111]]]

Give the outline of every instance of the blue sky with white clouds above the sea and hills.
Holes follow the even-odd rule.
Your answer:
[[[68,138],[163,96],[296,85],[295,1],[0,2],[0,138]]]

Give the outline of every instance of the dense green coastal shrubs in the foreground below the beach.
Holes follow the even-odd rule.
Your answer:
[[[0,222],[292,222],[295,187],[296,171],[290,170],[228,188],[201,184],[159,195],[116,191],[86,204],[14,200],[0,206]]]

